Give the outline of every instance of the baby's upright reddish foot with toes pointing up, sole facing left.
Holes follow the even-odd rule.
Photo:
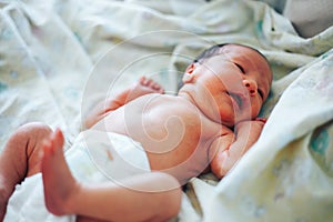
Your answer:
[[[71,175],[63,155],[63,134],[56,130],[43,143],[41,172],[47,209],[56,214],[71,213],[71,196],[78,183]]]

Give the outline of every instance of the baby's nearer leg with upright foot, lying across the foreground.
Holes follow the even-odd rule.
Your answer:
[[[77,214],[78,221],[165,221],[180,209],[178,181],[163,173],[135,175],[124,185],[81,184],[72,176],[57,130],[43,145],[42,178],[48,210],[56,215]],[[168,204],[168,208],[165,205]]]

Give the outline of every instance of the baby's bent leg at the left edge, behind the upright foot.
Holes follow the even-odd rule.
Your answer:
[[[42,123],[20,127],[8,140],[0,155],[0,221],[16,184],[40,171],[39,150],[51,129]]]

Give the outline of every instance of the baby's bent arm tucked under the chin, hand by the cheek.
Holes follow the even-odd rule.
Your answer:
[[[211,162],[212,172],[220,179],[224,176],[233,165],[244,155],[244,153],[256,142],[265,121],[255,119],[242,121],[235,125],[235,135],[229,132],[220,137],[213,145],[219,145],[215,157]],[[234,141],[233,141],[234,140]]]

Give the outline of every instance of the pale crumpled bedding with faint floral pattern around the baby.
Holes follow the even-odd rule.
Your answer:
[[[21,124],[63,129],[148,75],[176,93],[214,43],[259,49],[274,81],[255,145],[221,181],[184,188],[175,221],[333,221],[333,28],[301,38],[260,1],[0,1],[0,149]]]

